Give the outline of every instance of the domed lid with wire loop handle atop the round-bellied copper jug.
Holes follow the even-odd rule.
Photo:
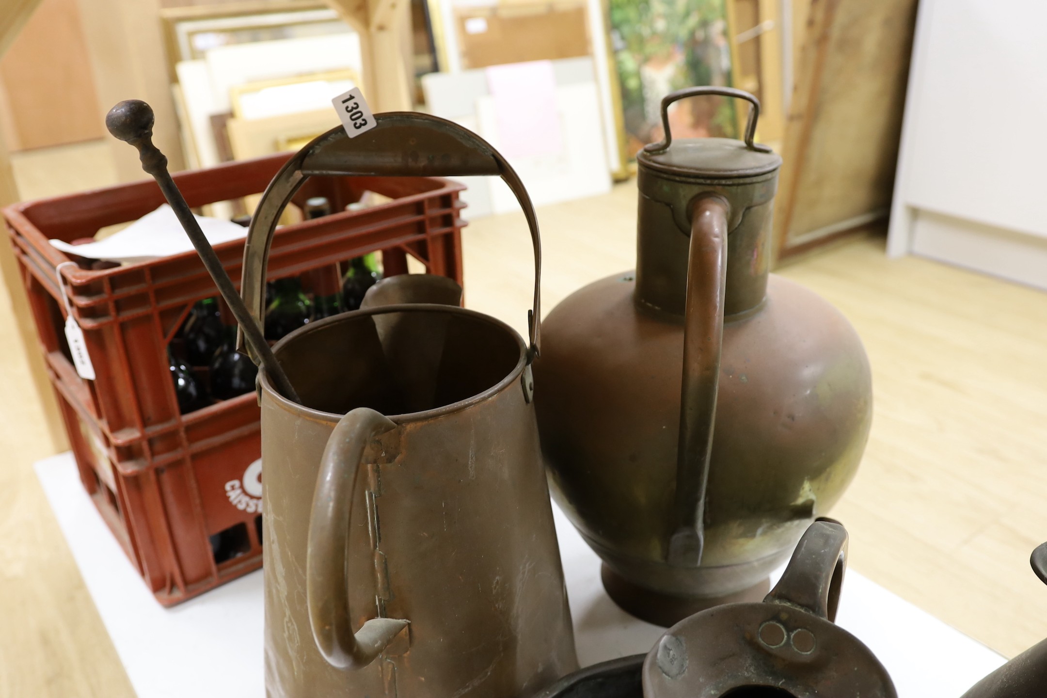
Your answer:
[[[669,130],[669,105],[699,95],[717,94],[750,103],[744,140],[735,138],[681,138],[673,140]],[[730,87],[692,87],[677,90],[662,99],[662,125],[665,138],[649,143],[637,155],[641,165],[670,175],[699,179],[739,179],[758,177],[781,166],[782,159],[766,145],[753,142],[760,103],[749,92]]]

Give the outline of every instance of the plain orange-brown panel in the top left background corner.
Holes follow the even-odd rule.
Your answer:
[[[0,60],[0,76],[18,149],[103,136],[76,0],[43,0]]]

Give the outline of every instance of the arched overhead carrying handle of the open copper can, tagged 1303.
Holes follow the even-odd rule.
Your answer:
[[[529,362],[538,355],[541,240],[538,219],[524,183],[487,141],[453,121],[417,112],[375,114],[371,131],[349,138],[336,127],[317,136],[276,173],[259,202],[244,245],[241,293],[251,314],[265,319],[265,277],[269,247],[280,215],[302,184],[314,175],[378,177],[502,177],[524,209],[534,247],[534,305],[528,315]],[[243,350],[243,340],[238,338]]]

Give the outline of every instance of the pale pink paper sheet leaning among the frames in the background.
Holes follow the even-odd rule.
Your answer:
[[[494,98],[498,150],[507,158],[558,155],[563,135],[556,105],[556,75],[550,61],[487,68]]]

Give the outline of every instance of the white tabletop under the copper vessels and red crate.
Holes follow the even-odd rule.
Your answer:
[[[80,483],[72,455],[36,464],[138,698],[262,698],[262,571],[164,609],[146,588]],[[578,659],[587,666],[647,652],[663,628],[619,609],[600,561],[554,506]],[[879,658],[899,698],[958,698],[1003,657],[854,570],[837,622]]]

